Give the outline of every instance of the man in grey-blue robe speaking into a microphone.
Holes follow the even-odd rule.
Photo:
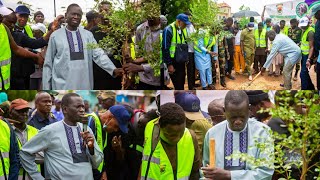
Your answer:
[[[62,98],[64,119],[42,128],[20,151],[21,165],[32,179],[44,179],[37,170],[36,153],[44,152],[45,179],[93,180],[92,169],[103,160],[92,130],[83,125],[84,103],[75,93]]]

